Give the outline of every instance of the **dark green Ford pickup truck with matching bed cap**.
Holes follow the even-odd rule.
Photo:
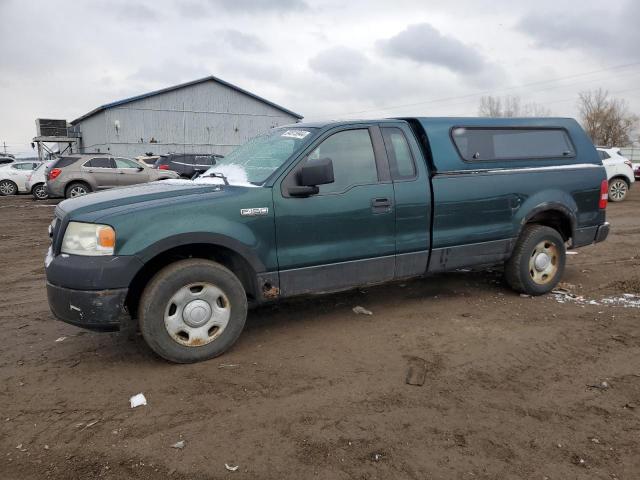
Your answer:
[[[564,118],[298,123],[202,177],[60,203],[47,291],[56,317],[138,323],[173,362],[220,355],[250,305],[504,264],[530,295],[566,249],[603,241],[607,179]]]

